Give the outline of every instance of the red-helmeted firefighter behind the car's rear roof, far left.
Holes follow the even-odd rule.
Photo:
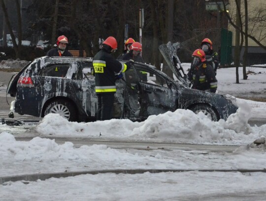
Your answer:
[[[50,49],[46,56],[73,56],[66,50],[66,44],[68,44],[67,38],[62,35],[56,40],[56,48]]]

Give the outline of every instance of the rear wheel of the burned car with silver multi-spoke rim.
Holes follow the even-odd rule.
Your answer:
[[[74,105],[68,100],[55,100],[46,107],[44,115],[49,113],[59,114],[68,121],[77,120],[77,112]]]

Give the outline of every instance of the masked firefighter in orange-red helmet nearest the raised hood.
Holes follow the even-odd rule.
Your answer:
[[[188,73],[188,79],[192,82],[192,88],[215,93],[217,80],[212,66],[205,59],[204,51],[196,49],[192,57],[194,59]]]

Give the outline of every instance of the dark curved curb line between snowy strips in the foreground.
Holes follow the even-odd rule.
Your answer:
[[[51,177],[61,178],[77,176],[81,174],[104,174],[104,173],[115,173],[115,174],[142,174],[144,172],[160,173],[160,172],[188,172],[188,171],[199,171],[199,172],[264,172],[266,169],[110,169],[110,170],[92,170],[92,171],[76,171],[76,172],[57,172],[57,173],[42,173],[42,174],[24,174],[16,176],[0,177],[0,184],[8,181],[37,181],[45,180]]]

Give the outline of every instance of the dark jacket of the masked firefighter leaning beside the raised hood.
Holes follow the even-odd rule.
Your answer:
[[[192,82],[192,88],[198,90],[210,90],[215,93],[217,89],[217,80],[212,66],[206,63],[200,63],[199,66],[191,66],[188,79]]]

